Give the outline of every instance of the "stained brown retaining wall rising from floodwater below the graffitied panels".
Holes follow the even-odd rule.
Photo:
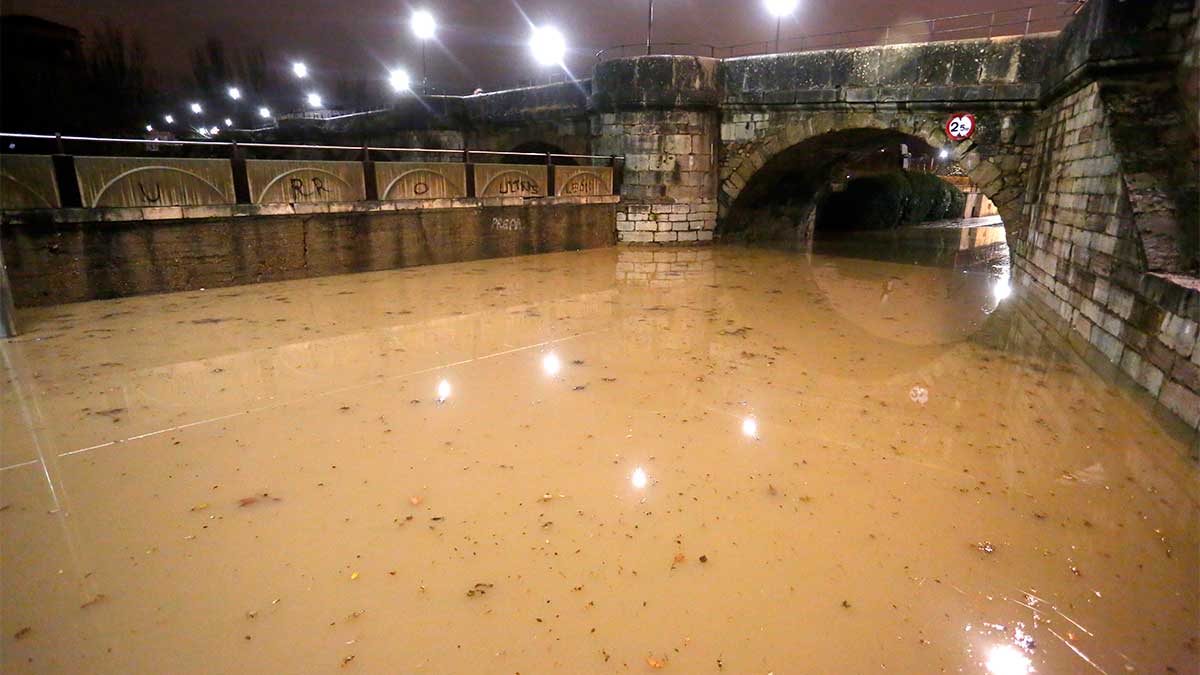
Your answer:
[[[5,214],[18,306],[611,246],[617,197]]]

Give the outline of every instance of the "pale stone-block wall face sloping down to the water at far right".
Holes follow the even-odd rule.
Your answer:
[[[1153,177],[1124,171],[1110,110],[1092,83],[1042,113],[1026,231],[1010,234],[1016,282],[1075,341],[1200,428],[1200,283],[1146,271],[1136,215]]]

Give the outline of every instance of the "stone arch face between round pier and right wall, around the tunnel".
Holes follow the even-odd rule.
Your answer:
[[[925,153],[949,150],[972,183],[995,202],[1010,241],[1014,228],[1021,227],[1026,183],[1020,174],[1028,166],[1028,147],[1018,138],[1024,119],[984,115],[976,138],[952,144],[942,114],[785,109],[727,110],[724,117],[719,231],[737,228],[739,210],[762,197],[781,174],[806,172],[802,181],[808,186],[800,190],[811,190],[815,198],[841,160],[888,143],[908,143]]]

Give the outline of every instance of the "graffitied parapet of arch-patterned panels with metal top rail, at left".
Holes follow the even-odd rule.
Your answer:
[[[2,210],[605,196],[619,192],[618,167],[624,161],[622,156],[443,148],[35,133],[0,133],[0,138],[50,145],[42,154],[0,155]],[[166,145],[202,154],[216,150],[228,157],[73,155],[67,154],[67,143],[107,144],[109,149],[142,145],[146,155]],[[324,156],[294,156],[306,153]],[[290,156],[280,159],[281,154]],[[331,154],[355,159],[329,159]],[[500,163],[476,163],[475,159]]]

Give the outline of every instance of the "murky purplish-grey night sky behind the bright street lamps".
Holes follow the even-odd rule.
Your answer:
[[[896,24],[1054,0],[800,0],[784,34]],[[4,13],[28,13],[90,32],[106,20],[139,34],[151,66],[185,85],[190,50],[208,35],[230,47],[262,46],[281,67],[304,59],[318,77],[383,77],[388,67],[420,70],[407,17],[421,6],[438,16],[442,48],[430,49],[431,80],[493,89],[534,76],[529,24],[552,23],[572,47],[568,65],[587,76],[594,52],[646,40],[646,0],[0,0]],[[524,14],[524,17],[522,16]],[[768,40],[774,20],[761,0],[656,0],[655,41],[728,44]],[[1013,18],[1015,14],[1007,14]]]

